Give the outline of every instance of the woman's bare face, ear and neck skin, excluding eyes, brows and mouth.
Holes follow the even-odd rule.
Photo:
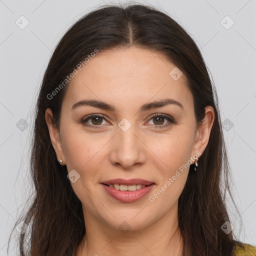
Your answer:
[[[205,107],[204,122],[196,125],[187,79],[183,74],[174,80],[169,75],[173,67],[160,53],[134,46],[101,51],[70,81],[61,106],[59,130],[51,123],[50,108],[46,109],[45,120],[57,160],[62,159],[68,172],[75,169],[80,174],[71,185],[82,203],[86,236],[76,255],[182,255],[177,205],[188,168],[155,201],[148,197],[161,189],[182,164],[189,159],[193,163],[196,152],[202,154],[214,110]],[[166,97],[179,101],[183,109],[169,104],[138,112],[142,104]],[[82,99],[103,100],[114,105],[116,111],[92,106],[71,110]],[[172,116],[176,123],[157,128],[169,122],[151,118],[154,113]],[[87,120],[88,125],[98,125],[96,128],[80,122],[89,114],[104,115],[99,120]],[[118,126],[123,118],[131,124],[127,131]],[[155,185],[138,201],[120,202],[100,184],[113,178],[141,178]],[[126,233],[118,228],[123,221],[130,228]]]

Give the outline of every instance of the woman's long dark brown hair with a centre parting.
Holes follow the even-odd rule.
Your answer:
[[[204,118],[205,106],[214,109],[207,147],[197,170],[190,166],[178,199],[178,224],[184,241],[183,255],[232,255],[237,241],[232,231],[226,234],[221,229],[229,221],[226,193],[234,200],[214,84],[199,48],[175,20],[154,7],[132,4],[101,6],[84,15],[64,34],[50,58],[34,119],[30,170],[35,192],[28,210],[15,223],[23,220],[29,227],[19,236],[22,256],[75,255],[86,232],[81,202],[66,177],[66,166],[56,160],[45,109],[51,108],[53,123],[59,128],[61,102],[68,86],[63,80],[95,49],[130,46],[162,53],[186,75],[197,124]],[[61,83],[63,86],[56,91]],[[49,96],[54,90],[54,96]]]

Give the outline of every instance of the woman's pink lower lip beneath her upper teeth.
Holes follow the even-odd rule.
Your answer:
[[[146,195],[153,188],[154,184],[145,186],[135,191],[121,191],[104,184],[102,184],[102,186],[105,188],[106,192],[113,198],[122,202],[134,202]]]

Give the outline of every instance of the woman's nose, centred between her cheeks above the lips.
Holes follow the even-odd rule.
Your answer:
[[[135,125],[131,125],[126,131],[118,128],[111,141],[110,161],[124,169],[139,166],[145,162],[146,148],[142,135],[139,135]]]

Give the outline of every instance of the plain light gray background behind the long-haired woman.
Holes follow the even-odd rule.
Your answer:
[[[233,195],[243,220],[240,232],[239,215],[228,203],[231,223],[241,241],[256,245],[256,1],[137,2],[168,12],[201,49],[218,92]],[[31,190],[32,109],[50,54],[75,20],[105,3],[0,0],[0,256],[6,255],[10,229]]]

